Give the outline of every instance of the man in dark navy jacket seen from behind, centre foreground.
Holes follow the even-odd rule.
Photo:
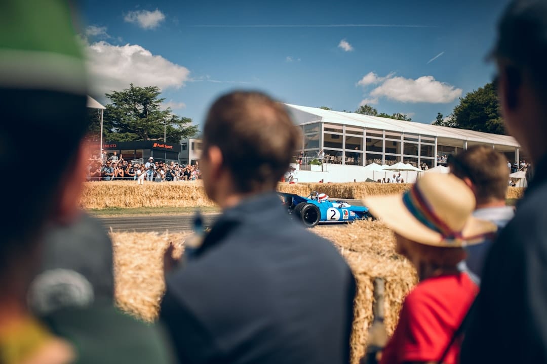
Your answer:
[[[223,214],[167,278],[160,312],[181,363],[349,362],[352,272],[275,193],[298,138],[262,93],[225,94],[208,112],[200,169]]]

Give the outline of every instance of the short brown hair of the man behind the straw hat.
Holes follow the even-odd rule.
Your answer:
[[[475,187],[477,203],[505,200],[509,181],[507,158],[484,145],[474,145],[451,156],[450,171],[458,178],[469,178]]]

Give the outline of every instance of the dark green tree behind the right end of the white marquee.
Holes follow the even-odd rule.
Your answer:
[[[459,98],[459,104],[447,121],[444,121],[442,116],[440,113],[437,114],[433,125],[507,134],[499,110],[497,89],[491,82]]]

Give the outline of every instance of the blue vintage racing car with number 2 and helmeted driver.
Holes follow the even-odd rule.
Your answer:
[[[319,223],[350,222],[371,217],[368,207],[352,206],[346,201],[330,201],[328,195],[317,191],[307,197],[293,193],[278,194],[289,214],[310,227]]]

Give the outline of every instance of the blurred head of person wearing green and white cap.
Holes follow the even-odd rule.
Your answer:
[[[63,150],[39,186],[2,179],[8,212],[0,219],[0,277],[30,270],[22,262],[32,260],[40,232],[75,208],[85,180],[87,82],[72,11],[66,1],[0,3],[0,158],[33,160],[60,144]]]

